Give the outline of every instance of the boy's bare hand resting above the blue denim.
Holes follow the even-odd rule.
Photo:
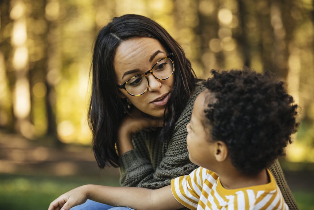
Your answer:
[[[80,186],[64,193],[52,201],[48,210],[69,210],[73,206],[85,203],[87,200],[86,186]]]

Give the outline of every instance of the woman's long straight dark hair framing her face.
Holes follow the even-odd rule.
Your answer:
[[[115,148],[116,134],[127,103],[126,99],[118,97],[113,60],[119,44],[133,37],[154,38],[168,52],[174,54],[174,88],[160,133],[162,141],[171,136],[174,124],[195,86],[195,74],[190,61],[180,45],[163,27],[154,20],[136,14],[113,18],[100,30],[96,38],[91,68],[93,78],[88,120],[93,134],[93,151],[100,168],[106,165],[119,166]]]

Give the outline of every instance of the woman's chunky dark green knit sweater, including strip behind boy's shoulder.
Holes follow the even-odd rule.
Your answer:
[[[186,126],[190,122],[194,101],[204,89],[198,82],[167,142],[161,142],[155,132],[142,131],[133,135],[134,149],[119,159],[122,186],[158,189],[169,185],[171,179],[189,174],[198,167],[188,157]],[[298,209],[278,160],[269,169],[289,209]]]

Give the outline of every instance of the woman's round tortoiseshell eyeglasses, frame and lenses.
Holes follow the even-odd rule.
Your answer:
[[[173,54],[158,60],[153,67],[144,74],[138,74],[131,77],[123,84],[118,85],[119,88],[125,89],[128,94],[132,96],[143,95],[149,88],[149,81],[147,75],[151,73],[158,80],[168,79],[175,72],[175,65],[172,60]]]

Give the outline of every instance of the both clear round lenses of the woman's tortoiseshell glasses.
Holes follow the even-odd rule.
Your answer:
[[[168,79],[174,71],[174,66],[170,58],[164,58],[154,65],[152,74],[158,79]],[[143,94],[148,88],[146,75],[138,75],[131,78],[125,85],[127,92],[132,95]]]

